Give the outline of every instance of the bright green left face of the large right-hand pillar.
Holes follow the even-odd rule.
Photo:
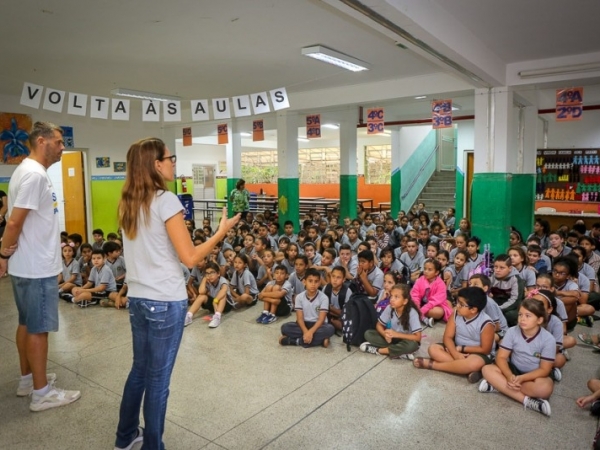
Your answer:
[[[472,234],[481,239],[481,247],[490,244],[495,255],[508,247],[511,225],[512,175],[476,173],[471,191]]]

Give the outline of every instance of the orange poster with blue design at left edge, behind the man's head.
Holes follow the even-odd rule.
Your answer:
[[[3,164],[19,164],[29,155],[30,130],[30,115],[0,113],[0,145],[2,146]]]

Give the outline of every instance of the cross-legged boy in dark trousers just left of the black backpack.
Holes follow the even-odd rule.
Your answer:
[[[307,269],[304,277],[306,290],[296,295],[296,322],[281,326],[281,345],[303,347],[329,346],[329,338],[335,333],[333,325],[327,323],[329,299],[319,291],[321,274],[316,269]]]

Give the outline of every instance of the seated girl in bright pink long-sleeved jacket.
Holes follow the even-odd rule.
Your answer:
[[[440,278],[441,264],[433,259],[423,264],[423,276],[415,282],[410,296],[417,304],[423,324],[433,327],[435,320],[447,321],[452,307],[446,299],[446,283]]]

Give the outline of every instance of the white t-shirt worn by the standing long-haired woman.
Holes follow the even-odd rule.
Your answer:
[[[123,233],[128,297],[156,301],[187,299],[179,257],[165,225],[182,211],[183,206],[175,194],[160,191],[150,204],[148,226],[141,214],[135,239]]]

